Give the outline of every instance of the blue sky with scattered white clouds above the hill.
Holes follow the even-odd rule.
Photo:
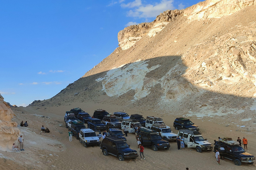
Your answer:
[[[111,54],[120,30],[198,2],[0,1],[0,93],[17,106],[49,99]]]

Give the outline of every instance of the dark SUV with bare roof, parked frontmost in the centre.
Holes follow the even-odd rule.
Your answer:
[[[124,159],[136,159],[139,155],[135,149],[130,148],[123,139],[119,137],[105,137],[101,144],[100,149],[103,152],[103,155],[107,156],[108,154],[116,156],[120,161]]]

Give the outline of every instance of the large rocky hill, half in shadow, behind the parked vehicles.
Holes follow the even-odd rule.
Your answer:
[[[254,0],[206,0],[118,33],[120,47],[51,99],[172,115],[222,116],[255,129]],[[104,100],[103,100],[104,99]]]

